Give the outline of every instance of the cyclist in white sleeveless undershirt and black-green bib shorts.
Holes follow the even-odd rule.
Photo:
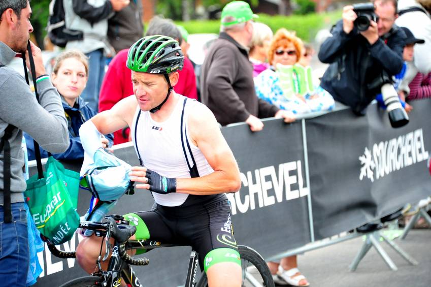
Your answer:
[[[130,126],[142,165],[132,167],[131,180],[155,200],[151,211],[124,215],[137,226],[131,239],[191,245],[210,286],[240,286],[241,259],[224,195],[241,187],[238,165],[212,112],[173,90],[183,60],[170,37],[147,36],[132,45],[127,67],[134,95],[84,123],[82,145],[91,155],[101,147],[100,134]],[[93,235],[77,247],[89,273],[101,240]]]

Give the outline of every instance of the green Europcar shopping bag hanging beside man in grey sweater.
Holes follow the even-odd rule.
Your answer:
[[[41,170],[39,170],[41,171]],[[36,227],[51,243],[69,241],[79,226],[79,173],[65,169],[50,156],[46,172],[27,180],[25,197]]]

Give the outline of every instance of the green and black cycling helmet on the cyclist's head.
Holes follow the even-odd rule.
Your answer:
[[[127,68],[135,72],[170,74],[184,66],[178,42],[167,36],[147,36],[133,44],[127,54]]]

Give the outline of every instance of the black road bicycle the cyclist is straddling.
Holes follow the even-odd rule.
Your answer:
[[[79,227],[93,230],[96,236],[105,238],[104,242],[106,246],[106,252],[102,261],[105,261],[108,258],[109,253],[111,253],[108,269],[106,271],[102,270],[102,254],[100,254],[96,261],[98,267],[97,272],[92,273],[89,276],[72,279],[62,284],[60,287],[119,287],[121,286],[121,281],[124,281],[127,286],[142,287],[142,284],[131,268],[131,265],[145,266],[149,264],[149,260],[146,258],[131,257],[127,253],[127,250],[150,250],[154,248],[181,246],[176,244],[164,244],[154,240],[128,240],[133,234],[135,234],[135,226],[129,226],[128,221],[125,221],[120,215],[106,215],[105,218],[107,219],[107,222],[103,223],[82,221],[80,222]],[[109,242],[110,238],[114,239],[112,248]],[[48,249],[54,256],[59,258],[76,258],[75,251],[61,251],[51,243],[48,243]],[[274,280],[268,265],[260,256],[260,254],[254,249],[245,245],[238,245],[238,250],[241,256],[243,278],[242,286],[275,287]],[[198,266],[198,254],[196,251],[191,250],[186,283],[184,285],[185,287],[208,286],[208,278],[204,272],[202,273],[200,279],[198,281],[196,280]],[[253,274],[251,274],[254,272],[254,269],[257,270],[260,276],[259,279],[256,279]]]

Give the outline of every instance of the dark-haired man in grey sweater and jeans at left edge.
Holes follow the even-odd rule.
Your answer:
[[[29,33],[33,30],[30,16],[31,8],[27,0],[0,1],[0,282],[5,286],[25,286],[29,264],[23,197],[26,183],[22,176],[22,132],[28,133],[43,149],[53,153],[63,152],[69,146],[67,121],[60,96],[46,75],[41,50],[31,43],[40,104],[24,78],[7,67],[16,53],[26,51]],[[8,129],[9,139],[4,139],[8,126],[11,126]],[[9,166],[5,165],[9,158],[5,157],[5,141],[10,146],[8,174],[4,172],[8,171]],[[5,180],[9,178],[9,173],[10,184]],[[10,196],[4,195],[4,190],[9,190],[9,187]]]

